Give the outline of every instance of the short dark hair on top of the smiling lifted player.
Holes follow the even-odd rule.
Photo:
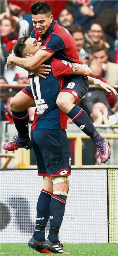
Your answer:
[[[31,6],[31,14],[33,15],[45,14],[49,12],[51,13],[51,6],[46,2],[39,1]]]

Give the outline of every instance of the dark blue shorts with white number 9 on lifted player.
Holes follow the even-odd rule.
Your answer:
[[[69,81],[68,81],[69,79]],[[65,86],[61,90],[67,91],[75,97],[75,103],[77,103],[78,100],[80,100],[88,91],[89,83],[88,78],[85,78],[84,76],[73,76],[71,75],[69,78],[65,77]]]

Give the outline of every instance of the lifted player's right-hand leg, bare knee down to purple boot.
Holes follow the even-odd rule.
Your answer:
[[[75,98],[71,93],[60,92],[59,96],[58,107],[72,119],[79,129],[92,139],[99,152],[101,162],[106,163],[111,156],[109,141],[97,132],[86,112],[74,104]]]

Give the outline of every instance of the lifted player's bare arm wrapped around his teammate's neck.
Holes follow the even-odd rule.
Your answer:
[[[38,68],[42,63],[47,61],[47,59],[49,59],[51,56],[52,53],[46,52],[41,49],[37,51],[34,56],[29,58],[19,58],[12,53],[7,58],[7,67],[15,64],[19,67],[23,67],[24,69],[32,71]]]

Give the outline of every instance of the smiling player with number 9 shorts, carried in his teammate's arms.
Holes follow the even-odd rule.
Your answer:
[[[53,16],[51,15],[51,7],[45,2],[36,2],[31,7],[32,22],[34,25],[34,30],[32,31],[32,37],[41,40],[43,43],[43,48],[40,49],[31,58],[18,58],[11,54],[8,57],[8,66],[12,63],[19,65],[27,70],[30,70],[36,74],[36,69],[44,63],[47,59],[54,55],[54,58],[63,59],[64,61],[76,62],[82,64],[82,61],[78,59],[77,48],[73,37],[70,35],[68,30],[59,26],[54,22]],[[99,84],[99,81],[97,81]],[[64,113],[66,113],[73,122],[90,136],[93,143],[97,146],[102,163],[105,163],[110,155],[109,142],[107,139],[101,137],[94,125],[90,121],[86,112],[75,105],[75,97],[73,91],[77,87],[82,86],[87,90],[87,80],[82,76],[68,76],[65,80],[66,87],[62,89],[57,98],[57,105]],[[68,85],[67,85],[68,84]],[[70,91],[68,90],[70,89]],[[20,111],[19,108],[13,108],[17,105],[17,102],[12,100],[11,108],[13,111],[14,123],[20,126],[20,121],[22,121],[22,126],[24,122],[24,127],[28,124],[28,112]],[[22,120],[21,120],[22,119]],[[19,122],[19,124],[18,124]],[[28,146],[29,137],[26,128],[19,132],[19,138],[9,145],[9,150],[13,150],[19,145],[19,147]],[[10,149],[11,148],[11,149]]]

